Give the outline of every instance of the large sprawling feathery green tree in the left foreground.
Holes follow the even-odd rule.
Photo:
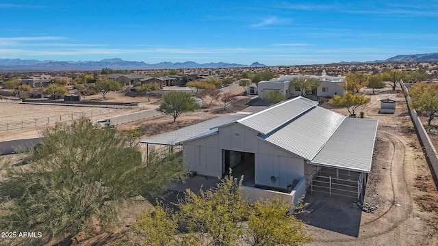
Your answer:
[[[185,176],[181,154],[152,152],[144,161],[123,134],[86,118],[42,136],[25,164],[6,167],[0,181],[1,230],[41,232],[37,245],[71,238],[90,221],[109,226],[130,197],[157,197]]]

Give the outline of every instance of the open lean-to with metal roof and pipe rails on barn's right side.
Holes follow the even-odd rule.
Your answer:
[[[361,121],[368,122],[360,124]],[[320,152],[307,161],[307,193],[326,193],[363,201],[376,128],[376,121],[346,118]]]

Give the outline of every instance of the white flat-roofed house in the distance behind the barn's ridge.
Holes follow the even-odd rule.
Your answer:
[[[271,79],[270,81],[260,81],[258,85],[259,98],[263,98],[263,92],[270,92],[272,90],[279,90],[285,98],[291,98],[300,96],[299,88],[293,88],[289,90],[290,81],[297,77],[313,77],[320,79],[321,84],[309,95],[315,96],[344,96],[345,89],[342,87],[345,77],[332,77],[327,76],[326,72],[323,71],[321,76],[316,75],[281,75],[279,78]]]

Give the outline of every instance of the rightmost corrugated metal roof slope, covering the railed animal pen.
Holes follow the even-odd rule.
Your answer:
[[[311,163],[369,173],[377,124],[346,118]]]

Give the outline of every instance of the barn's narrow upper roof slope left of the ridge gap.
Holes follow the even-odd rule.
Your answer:
[[[248,115],[245,118],[237,120],[237,122],[252,128],[262,135],[266,135],[296,118],[301,113],[315,107],[315,105],[318,105],[318,102],[298,97],[280,102],[267,109]]]

